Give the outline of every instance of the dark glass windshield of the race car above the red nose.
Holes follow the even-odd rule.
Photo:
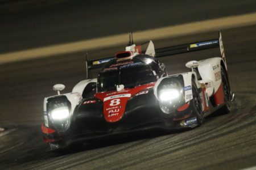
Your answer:
[[[155,81],[156,76],[150,66],[147,65],[133,67],[132,69],[118,69],[100,73],[98,77],[98,91],[115,90],[115,86],[118,84],[123,84],[127,88]]]

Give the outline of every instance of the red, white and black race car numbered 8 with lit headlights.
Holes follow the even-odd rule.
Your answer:
[[[86,79],[72,92],[44,99],[44,142],[51,150],[73,143],[144,130],[195,128],[209,114],[230,112],[230,90],[221,32],[219,38],[155,49],[152,41],[135,45],[130,35],[125,51],[88,61]],[[188,61],[191,71],[169,75],[159,57],[220,48],[221,56]],[[97,78],[90,70],[100,69]]]

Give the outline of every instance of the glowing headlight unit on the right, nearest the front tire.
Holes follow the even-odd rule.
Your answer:
[[[158,100],[161,110],[164,113],[174,113],[175,109],[180,107],[184,102],[183,79],[179,76],[166,78],[158,86]]]

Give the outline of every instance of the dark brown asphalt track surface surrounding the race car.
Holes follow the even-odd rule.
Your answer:
[[[204,32],[155,41],[156,48],[217,37]],[[0,169],[241,169],[256,165],[256,25],[222,31],[228,73],[236,99],[229,114],[214,113],[199,128],[152,131],[75,147],[66,154],[47,152],[40,124],[43,97],[52,85],[69,92],[85,78],[84,53],[1,65],[0,117],[8,134],[0,137]],[[96,50],[110,56],[122,46]],[[160,58],[170,74],[188,71],[192,59],[219,56],[218,49]]]

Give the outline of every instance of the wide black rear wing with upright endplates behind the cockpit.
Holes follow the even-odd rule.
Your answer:
[[[221,31],[218,31],[218,39],[200,41],[200,42],[192,42],[188,44],[182,45],[175,45],[175,46],[167,46],[165,48],[155,49],[155,57],[166,57],[172,56],[174,54],[181,54],[181,53],[188,53],[188,52],[195,52],[198,50],[204,49],[211,49],[211,48],[220,48],[221,57],[224,59],[225,65],[225,53],[224,53],[224,46],[222,42]],[[145,51],[142,51],[144,53]],[[114,59],[114,57],[108,57],[104,59],[96,59],[93,61],[87,60],[86,55],[86,78],[88,78],[88,71],[91,69],[99,69],[104,65],[104,63],[109,62],[110,60]]]

